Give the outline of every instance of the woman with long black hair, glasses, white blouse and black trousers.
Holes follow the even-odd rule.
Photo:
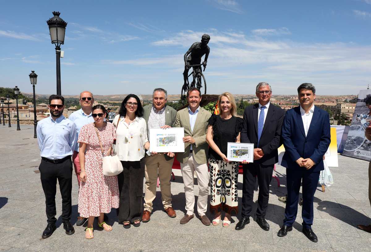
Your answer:
[[[122,171],[117,175],[120,205],[117,209],[118,223],[124,228],[131,224],[140,226],[142,219],[142,194],[145,149],[150,147],[147,124],[142,118],[143,107],[135,94],[129,94],[121,103],[119,114],[113,123],[116,127],[115,154],[121,160]]]

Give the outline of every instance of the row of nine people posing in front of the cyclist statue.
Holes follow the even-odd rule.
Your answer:
[[[269,230],[265,219],[269,200],[269,184],[273,167],[278,162],[278,148],[283,143],[286,152],[282,166],[287,168],[287,203],[283,226],[278,236],[292,230],[298,211],[299,190],[302,183],[303,233],[313,242],[318,239],[313,223],[313,196],[319,173],[324,169],[322,157],[330,144],[329,115],[315,107],[315,87],[303,83],[298,87],[300,106],[286,113],[270,103],[272,88],[268,83],[256,87],[259,103],[246,107],[243,118],[237,116],[236,101],[226,92],[219,96],[219,114],[211,114],[200,107],[201,92],[190,88],[188,106],[178,112],[166,106],[167,91],[156,88],[153,103],[142,107],[139,98],[129,94],[122,101],[119,114],[106,120],[104,106],[93,106],[89,91],[80,94],[81,109],[69,119],[63,116],[64,98],[49,97],[50,117],[37,125],[37,140],[42,161],[39,167],[46,198],[47,227],[42,238],[56,229],[56,181],[62,196],[62,222],[66,234],[75,230],[71,219],[72,164],[79,184],[79,217],[77,226],[86,221],[85,237],[94,237],[93,221],[98,217],[99,228],[111,231],[107,216],[116,209],[118,223],[128,229],[148,222],[156,197],[157,178],[161,183],[161,200],[169,217],[177,214],[172,206],[171,169],[175,153],[151,151],[151,128],[184,128],[184,152],[176,153],[184,183],[185,211],[181,224],[194,218],[194,173],[197,174],[197,214],[204,225],[228,227],[231,215],[238,213],[237,178],[239,162],[227,158],[227,143],[253,143],[254,162],[243,161],[242,218],[235,229],[241,230],[250,222],[253,207],[255,177],[259,183],[256,222]],[[147,151],[148,150],[148,151]],[[123,171],[107,177],[102,172],[102,158],[115,154]],[[72,157],[72,159],[71,159]],[[142,202],[143,177],[145,196]],[[209,191],[210,184],[210,191]],[[207,216],[208,196],[210,212]],[[223,216],[223,217],[222,217]]]

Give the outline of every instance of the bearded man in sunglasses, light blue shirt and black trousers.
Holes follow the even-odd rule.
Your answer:
[[[63,96],[49,97],[50,116],[37,123],[37,143],[40,149],[40,179],[45,194],[47,226],[42,238],[48,238],[56,229],[55,194],[57,179],[62,196],[62,222],[67,235],[75,233],[70,223],[72,213],[72,161],[76,146],[76,126],[63,116]]]

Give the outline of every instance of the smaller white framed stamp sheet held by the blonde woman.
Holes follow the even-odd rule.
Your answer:
[[[228,143],[227,158],[229,161],[242,162],[246,160],[249,163],[254,162],[254,144],[253,143]]]

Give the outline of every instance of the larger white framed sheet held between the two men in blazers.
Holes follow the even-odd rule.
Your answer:
[[[184,152],[184,128],[150,128],[150,151]]]

